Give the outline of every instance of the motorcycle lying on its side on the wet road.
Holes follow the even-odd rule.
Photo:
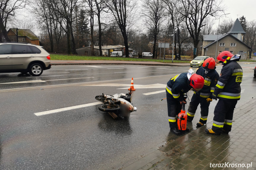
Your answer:
[[[128,117],[133,111],[137,111],[134,104],[131,103],[131,90],[129,93],[120,93],[114,95],[97,95],[96,100],[104,104],[98,106],[100,111],[108,112],[114,119],[118,117]]]

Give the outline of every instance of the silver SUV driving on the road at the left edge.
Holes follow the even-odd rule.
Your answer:
[[[0,72],[29,72],[39,76],[51,68],[50,54],[30,43],[0,43]]]

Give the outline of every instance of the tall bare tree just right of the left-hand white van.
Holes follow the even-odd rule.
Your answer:
[[[129,57],[128,35],[129,29],[134,22],[135,1],[132,0],[109,0],[106,2],[107,8],[114,17],[114,23],[118,25],[123,35],[125,45],[125,57]]]

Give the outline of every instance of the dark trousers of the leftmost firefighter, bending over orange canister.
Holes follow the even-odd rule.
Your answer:
[[[179,101],[175,100],[173,96],[168,93],[166,90],[166,100],[167,100],[167,109],[168,109],[168,117],[169,117],[169,126],[170,128],[177,127],[177,120],[178,114],[182,109],[182,105]]]

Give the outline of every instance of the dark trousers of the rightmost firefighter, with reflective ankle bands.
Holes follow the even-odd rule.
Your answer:
[[[214,109],[212,130],[221,133],[222,129],[226,132],[231,131],[234,109],[237,101],[219,99]]]

